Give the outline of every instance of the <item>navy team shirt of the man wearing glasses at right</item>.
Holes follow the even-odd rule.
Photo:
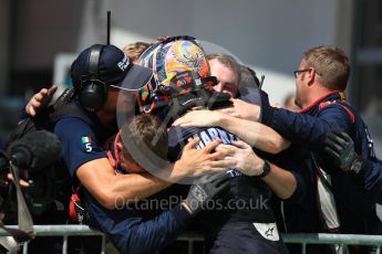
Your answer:
[[[301,113],[266,107],[262,121],[293,144],[313,151],[319,165],[331,174],[341,232],[381,233],[381,222],[375,216],[374,198],[381,193],[382,187],[375,188],[380,180],[375,176],[381,176],[381,167],[371,167],[358,176],[349,174],[332,165],[322,151],[322,141],[327,133],[339,129],[353,139],[358,155],[375,161],[373,142],[362,118],[341,99],[337,91],[328,93]]]

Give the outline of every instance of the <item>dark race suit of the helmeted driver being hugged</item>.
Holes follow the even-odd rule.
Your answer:
[[[205,147],[216,138],[220,138],[223,144],[231,144],[238,140],[235,135],[219,127],[172,127],[168,131],[169,160],[177,160],[180,157],[183,146],[187,144],[189,138],[195,136],[200,138],[197,145],[198,148]],[[213,209],[205,210],[197,216],[199,223],[203,224],[207,250],[213,247],[214,244],[221,244],[220,242],[216,243],[217,235],[219,235],[218,241],[221,241],[221,239],[229,239],[229,235],[235,234],[238,236],[235,246],[244,247],[246,245],[245,242],[248,239],[245,235],[247,232],[244,230],[223,230],[229,227],[231,223],[276,222],[269,203],[271,190],[268,186],[258,177],[247,177],[235,169],[227,171],[227,173],[231,177],[229,191],[215,199],[215,207]],[[228,235],[225,235],[227,233]],[[239,235],[242,236],[239,237]],[[271,242],[265,239],[264,242],[271,245],[279,244],[279,242]]]

